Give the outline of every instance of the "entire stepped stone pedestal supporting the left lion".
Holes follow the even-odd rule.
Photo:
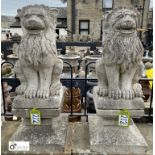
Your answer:
[[[60,114],[63,90],[59,96],[48,99],[27,99],[18,95],[13,102],[13,113],[23,122],[10,141],[28,141],[30,153],[62,153],[67,134],[68,117]],[[41,125],[31,125],[30,110],[41,112]]]

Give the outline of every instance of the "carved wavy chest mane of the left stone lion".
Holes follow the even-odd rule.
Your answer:
[[[42,58],[56,56],[56,45],[49,34],[38,36],[28,35],[21,41],[18,48],[20,60],[25,60],[34,66],[42,63]]]

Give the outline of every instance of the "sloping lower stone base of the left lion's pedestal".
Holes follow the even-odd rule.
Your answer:
[[[64,151],[67,122],[68,116],[60,115],[53,118],[52,124],[47,126],[26,126],[23,123],[10,141],[28,141],[30,143],[28,153],[31,154],[61,153]]]

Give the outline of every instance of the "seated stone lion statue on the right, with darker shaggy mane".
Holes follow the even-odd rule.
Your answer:
[[[113,99],[141,97],[143,46],[137,36],[138,12],[114,9],[103,20],[103,56],[96,63],[98,95]]]

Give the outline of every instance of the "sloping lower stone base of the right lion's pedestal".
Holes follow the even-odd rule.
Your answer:
[[[147,151],[145,142],[140,131],[134,124],[120,127],[109,120],[99,116],[89,116],[90,149],[108,155],[144,155]]]

